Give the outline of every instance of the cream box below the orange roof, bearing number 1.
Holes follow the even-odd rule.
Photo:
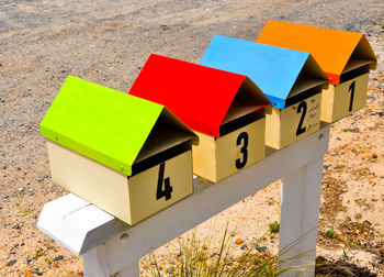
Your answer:
[[[323,90],[321,121],[334,123],[365,106],[369,73]]]

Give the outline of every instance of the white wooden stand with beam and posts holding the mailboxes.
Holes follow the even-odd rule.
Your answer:
[[[314,276],[323,157],[328,141],[329,125],[324,124],[283,149],[270,149],[264,159],[217,184],[195,178],[193,195],[136,225],[129,226],[69,193],[44,206],[37,226],[83,256],[84,276],[137,277],[139,258],[282,178],[279,246],[289,251],[281,258],[297,256],[283,266],[297,265],[296,270],[304,270],[301,276]],[[285,276],[295,274],[290,270]]]

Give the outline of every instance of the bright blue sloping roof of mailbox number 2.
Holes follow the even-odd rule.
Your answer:
[[[200,64],[248,76],[283,109],[308,53],[215,35]]]

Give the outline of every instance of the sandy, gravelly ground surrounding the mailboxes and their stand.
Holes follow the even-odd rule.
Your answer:
[[[36,229],[44,203],[67,193],[50,180],[38,131],[67,75],[127,91],[150,53],[197,63],[213,35],[255,41],[270,19],[362,32],[379,55],[368,108],[331,128],[317,255],[330,267],[384,276],[384,3],[377,0],[0,0],[0,275],[81,274],[81,258]],[[203,236],[215,222],[219,232],[230,218],[242,240],[235,253],[241,252],[279,221],[279,207],[278,181],[199,231]],[[264,245],[275,252],[278,235]]]

